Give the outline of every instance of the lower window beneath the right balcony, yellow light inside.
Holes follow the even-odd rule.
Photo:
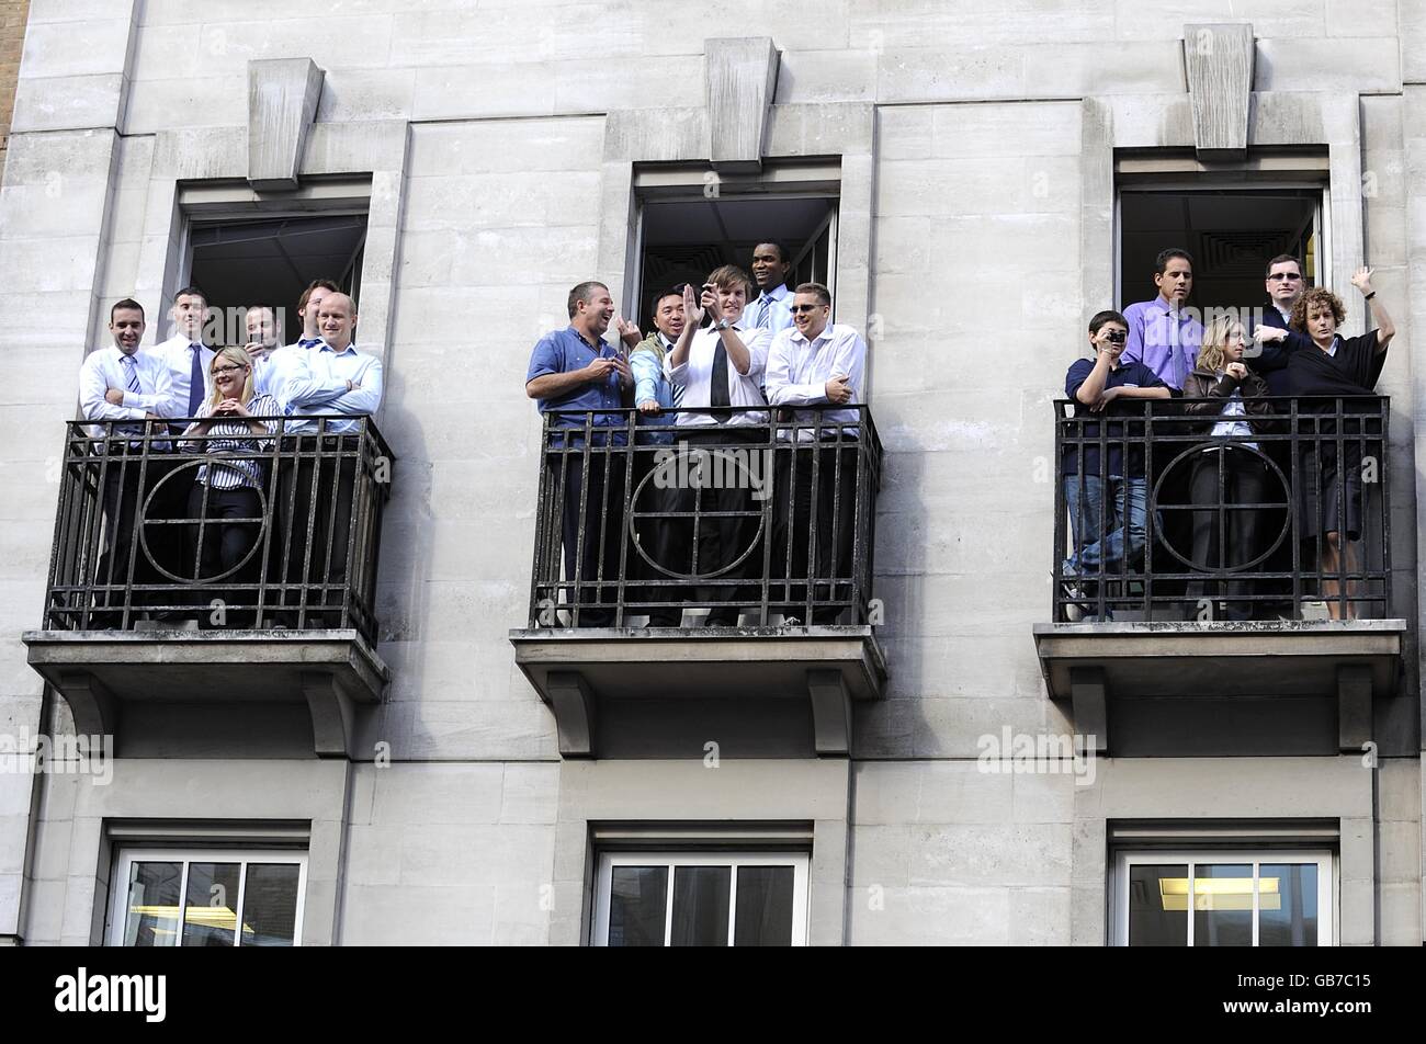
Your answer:
[[[1332,946],[1326,851],[1134,851],[1115,874],[1118,946]]]

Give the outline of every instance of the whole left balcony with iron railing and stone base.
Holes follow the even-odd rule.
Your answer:
[[[214,723],[268,719],[309,720],[299,746],[344,756],[356,705],[382,697],[391,451],[368,419],[301,434],[258,419],[275,432],[260,449],[158,422],[68,425],[44,625],[21,639],[76,729],[116,735],[121,756],[214,749]],[[250,492],[222,489],[240,476]]]

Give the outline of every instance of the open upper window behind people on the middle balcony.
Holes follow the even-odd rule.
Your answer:
[[[769,167],[759,175],[650,168],[636,174],[639,198],[639,322],[657,294],[702,284],[719,265],[752,274],[753,248],[781,242],[791,260],[787,285],[821,282],[836,302],[838,164]]]

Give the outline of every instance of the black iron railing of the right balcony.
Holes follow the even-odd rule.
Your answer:
[[[1389,399],[1249,402],[1055,404],[1057,622],[1387,615]]]

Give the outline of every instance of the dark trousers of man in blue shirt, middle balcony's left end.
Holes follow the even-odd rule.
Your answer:
[[[580,582],[566,602],[579,613],[570,623],[612,626],[626,539],[623,455],[606,458],[603,448],[592,446],[588,455],[579,451],[552,454],[549,466],[555,471],[555,482],[563,486],[565,579]],[[596,583],[586,586],[590,582]]]

